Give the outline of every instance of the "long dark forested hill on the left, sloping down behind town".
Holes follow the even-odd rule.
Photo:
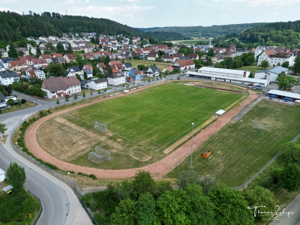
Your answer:
[[[0,12],[0,42],[21,40],[33,36],[61,36],[63,32],[80,33],[96,32],[109,35],[124,34],[128,36],[154,37],[156,40],[184,39],[177,32],[146,33],[121,23],[105,18],[87,16],[61,15],[55,12],[42,12],[31,15],[20,15],[15,12]]]

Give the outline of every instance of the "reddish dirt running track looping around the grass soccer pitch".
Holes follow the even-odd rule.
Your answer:
[[[158,85],[160,83],[154,84]],[[153,85],[151,85],[153,86]],[[149,86],[147,86],[149,87]],[[147,87],[138,88],[135,90],[132,90],[128,92],[128,94],[138,91]],[[256,93],[252,90],[248,90],[250,95],[244,99],[243,105],[250,104],[255,98],[258,97]],[[255,95],[254,95],[255,94]],[[89,104],[93,104],[95,102],[100,102],[103,100],[108,100],[114,97],[118,97],[119,95],[114,95],[111,97],[107,97],[104,99],[99,99],[96,101],[93,101],[92,103],[87,104],[81,104],[77,105],[72,108],[67,108],[64,110],[60,110],[57,112],[53,112],[47,116],[44,116],[34,123],[32,123],[25,132],[25,143],[30,152],[32,152],[37,158],[42,159],[43,161],[49,162],[53,165],[56,165],[57,167],[63,169],[63,170],[73,170],[74,172],[84,172],[87,174],[95,174],[98,178],[127,178],[127,177],[133,177],[138,169],[143,169],[146,171],[149,171],[153,178],[155,179],[161,179],[163,175],[167,174],[169,171],[171,171],[176,165],[178,165],[183,159],[185,159],[187,156],[190,155],[190,146],[191,146],[191,140],[184,143],[182,146],[178,147],[176,150],[172,151],[170,154],[165,156],[164,158],[160,159],[159,161],[156,161],[153,164],[149,164],[143,167],[139,168],[130,168],[130,169],[118,169],[118,170],[112,170],[112,169],[98,169],[98,168],[90,168],[90,167],[84,167],[80,165],[71,164],[65,161],[62,161],[60,159],[55,158],[54,156],[48,154],[46,151],[44,151],[38,144],[36,139],[36,131],[40,124],[42,124],[44,121],[46,121],[49,118],[52,118],[56,115],[59,115],[61,113],[74,110],[77,108],[84,107]],[[230,111],[227,111],[225,114],[220,116],[215,122],[210,124],[205,129],[201,130],[200,133],[198,133],[196,136],[193,137],[193,151],[199,147],[200,144],[202,144],[204,141],[206,141],[211,135],[216,133],[218,130],[220,130],[225,124],[227,124],[230,119],[236,115],[240,111],[241,103],[238,104],[236,107],[231,109]],[[63,138],[63,137],[62,137]],[[179,140],[180,141],[180,140]],[[182,142],[182,139],[181,141]],[[180,144],[178,143],[178,145]]]

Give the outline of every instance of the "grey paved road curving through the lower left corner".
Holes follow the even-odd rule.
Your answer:
[[[23,116],[1,118],[7,127],[6,134]],[[27,177],[24,186],[39,197],[44,206],[39,224],[92,224],[72,189],[17,154],[8,140],[0,145],[0,168],[6,171],[9,162],[24,166]]]

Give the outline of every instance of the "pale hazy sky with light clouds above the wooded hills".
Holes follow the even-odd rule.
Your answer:
[[[0,11],[108,18],[132,27],[210,26],[300,19],[300,0],[0,0]]]

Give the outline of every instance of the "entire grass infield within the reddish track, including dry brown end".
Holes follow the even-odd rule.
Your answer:
[[[240,98],[240,93],[164,83],[49,119],[39,127],[37,139],[47,152],[74,164],[139,167],[165,156],[166,147],[191,132],[191,122],[196,129]],[[96,121],[108,131],[94,129]],[[88,161],[96,145],[110,151],[111,160]]]

